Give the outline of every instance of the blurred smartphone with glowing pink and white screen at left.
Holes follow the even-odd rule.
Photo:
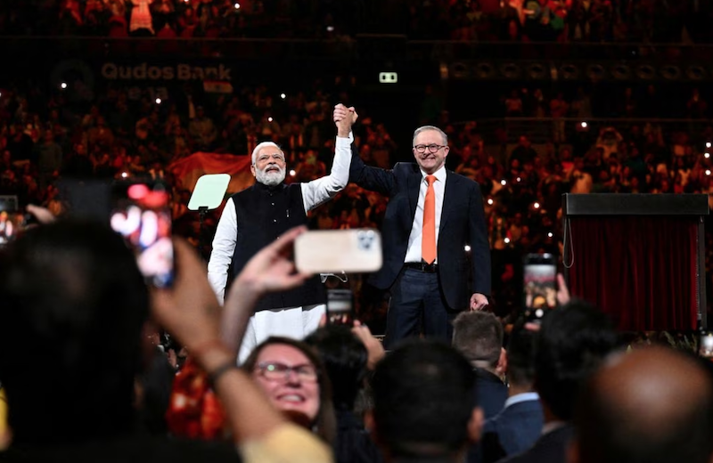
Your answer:
[[[147,283],[168,288],[175,279],[171,211],[163,183],[115,183],[111,228],[127,240]]]

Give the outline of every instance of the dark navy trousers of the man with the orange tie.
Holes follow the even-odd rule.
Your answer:
[[[438,273],[405,268],[391,288],[384,346],[391,349],[405,337],[423,335],[450,343],[457,313],[447,310]]]

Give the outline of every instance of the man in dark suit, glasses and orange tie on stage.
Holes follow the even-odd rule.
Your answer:
[[[352,114],[338,105],[334,120]],[[417,336],[421,321],[424,335],[450,341],[456,313],[488,305],[490,248],[480,187],[446,169],[448,150],[442,130],[422,126],[414,132],[416,164],[384,170],[352,156],[349,181],[389,197],[381,227],[384,264],[370,279],[391,293],[387,346]]]

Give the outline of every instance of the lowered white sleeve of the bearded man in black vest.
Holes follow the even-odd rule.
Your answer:
[[[217,300],[223,304],[225,285],[228,281],[228,268],[233,260],[235,242],[238,239],[238,220],[235,215],[233,199],[225,202],[223,215],[217,223],[216,237],[213,239],[213,250],[208,262],[208,280],[216,293]]]

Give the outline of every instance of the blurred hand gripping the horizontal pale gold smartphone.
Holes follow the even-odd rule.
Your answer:
[[[239,297],[242,291],[262,296],[268,292],[295,288],[304,283],[311,275],[296,272],[295,264],[288,255],[294,241],[305,231],[307,228],[304,226],[288,230],[253,256],[235,280],[228,298]]]

